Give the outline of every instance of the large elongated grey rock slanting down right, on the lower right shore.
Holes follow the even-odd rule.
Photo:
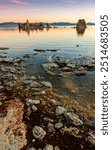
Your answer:
[[[66,113],[65,118],[69,124],[73,124],[73,125],[83,124],[83,122],[79,119],[79,116],[74,113],[71,112]]]

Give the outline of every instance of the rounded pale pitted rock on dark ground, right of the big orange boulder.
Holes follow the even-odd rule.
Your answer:
[[[32,133],[33,133],[33,136],[39,140],[43,140],[43,138],[46,135],[46,132],[43,130],[43,128],[39,126],[35,126],[32,130]]]

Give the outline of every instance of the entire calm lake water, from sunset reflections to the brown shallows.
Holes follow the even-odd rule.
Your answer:
[[[76,87],[79,89],[80,99],[88,99],[94,103],[94,81],[95,75],[93,72],[88,72],[86,76],[76,77],[70,76],[64,78],[49,77],[43,72],[41,64],[49,55],[65,56],[71,59],[80,56],[95,57],[95,27],[89,26],[86,28],[83,35],[79,35],[76,28],[59,27],[51,28],[50,30],[38,30],[19,32],[18,28],[0,28],[0,47],[8,47],[8,55],[13,57],[22,57],[25,54],[34,54],[34,49],[60,49],[57,52],[39,52],[31,58],[26,58],[27,73],[29,75],[43,75],[47,80],[52,82],[57,91],[69,94]],[[32,65],[28,65],[32,62]]]

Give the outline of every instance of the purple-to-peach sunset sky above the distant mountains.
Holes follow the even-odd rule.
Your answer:
[[[94,0],[0,0],[0,22],[95,22]]]

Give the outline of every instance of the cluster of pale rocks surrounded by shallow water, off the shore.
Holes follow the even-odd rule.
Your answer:
[[[42,64],[43,70],[52,76],[66,77],[68,74],[76,76],[86,75],[87,71],[95,70],[95,59],[91,57],[79,57],[70,60],[60,56],[49,56]]]

